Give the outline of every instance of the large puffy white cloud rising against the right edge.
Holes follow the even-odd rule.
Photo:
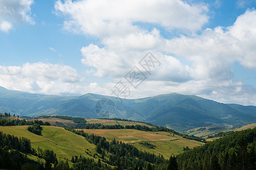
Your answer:
[[[201,35],[166,40],[162,50],[192,62],[196,78],[232,79],[232,65],[238,61],[256,67],[256,11],[247,10],[227,28],[206,29]]]

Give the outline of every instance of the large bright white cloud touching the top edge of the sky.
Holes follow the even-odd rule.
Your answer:
[[[55,10],[68,16],[64,22],[68,31],[99,37],[137,32],[138,22],[184,31],[200,30],[208,22],[207,6],[189,5],[180,0],[57,1]]]

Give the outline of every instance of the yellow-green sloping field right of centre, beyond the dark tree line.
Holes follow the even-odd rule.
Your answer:
[[[203,145],[202,142],[184,139],[178,135],[172,135],[164,131],[142,131],[135,129],[83,129],[89,134],[96,134],[112,141],[114,138],[123,143],[130,143],[141,151],[147,151],[156,155],[162,154],[168,159],[172,154],[178,155],[183,152],[183,147],[193,148]],[[148,148],[139,142],[147,141],[155,145],[155,149]]]

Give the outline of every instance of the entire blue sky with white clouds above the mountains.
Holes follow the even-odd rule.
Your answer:
[[[0,86],[256,105],[255,0],[0,0]]]

